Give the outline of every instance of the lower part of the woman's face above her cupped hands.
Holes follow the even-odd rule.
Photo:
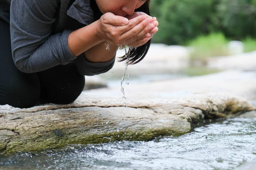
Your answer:
[[[102,14],[111,12],[122,17],[133,14],[145,2],[146,0],[96,0]]]

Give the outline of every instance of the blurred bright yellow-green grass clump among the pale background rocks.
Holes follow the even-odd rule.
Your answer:
[[[229,55],[227,47],[228,40],[222,33],[212,33],[198,36],[195,40],[189,41],[191,46],[190,60],[201,61],[207,64],[208,57]]]

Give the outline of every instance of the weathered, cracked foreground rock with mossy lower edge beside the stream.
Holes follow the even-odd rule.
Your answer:
[[[1,106],[0,151],[39,151],[67,144],[180,136],[205,118],[255,110],[246,99],[227,94],[195,94],[164,103],[131,102],[128,108],[113,99],[96,98],[87,96],[70,105],[29,109]]]

